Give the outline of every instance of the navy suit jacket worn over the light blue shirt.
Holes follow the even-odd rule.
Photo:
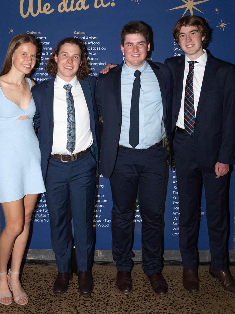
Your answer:
[[[173,79],[170,70],[158,62],[149,62],[154,71],[161,91],[164,125],[168,138],[170,154],[172,152],[171,103]],[[100,74],[96,90],[96,102],[99,116],[103,116],[101,139],[100,171],[109,178],[112,175],[118,152],[122,126],[121,73],[123,63]]]

